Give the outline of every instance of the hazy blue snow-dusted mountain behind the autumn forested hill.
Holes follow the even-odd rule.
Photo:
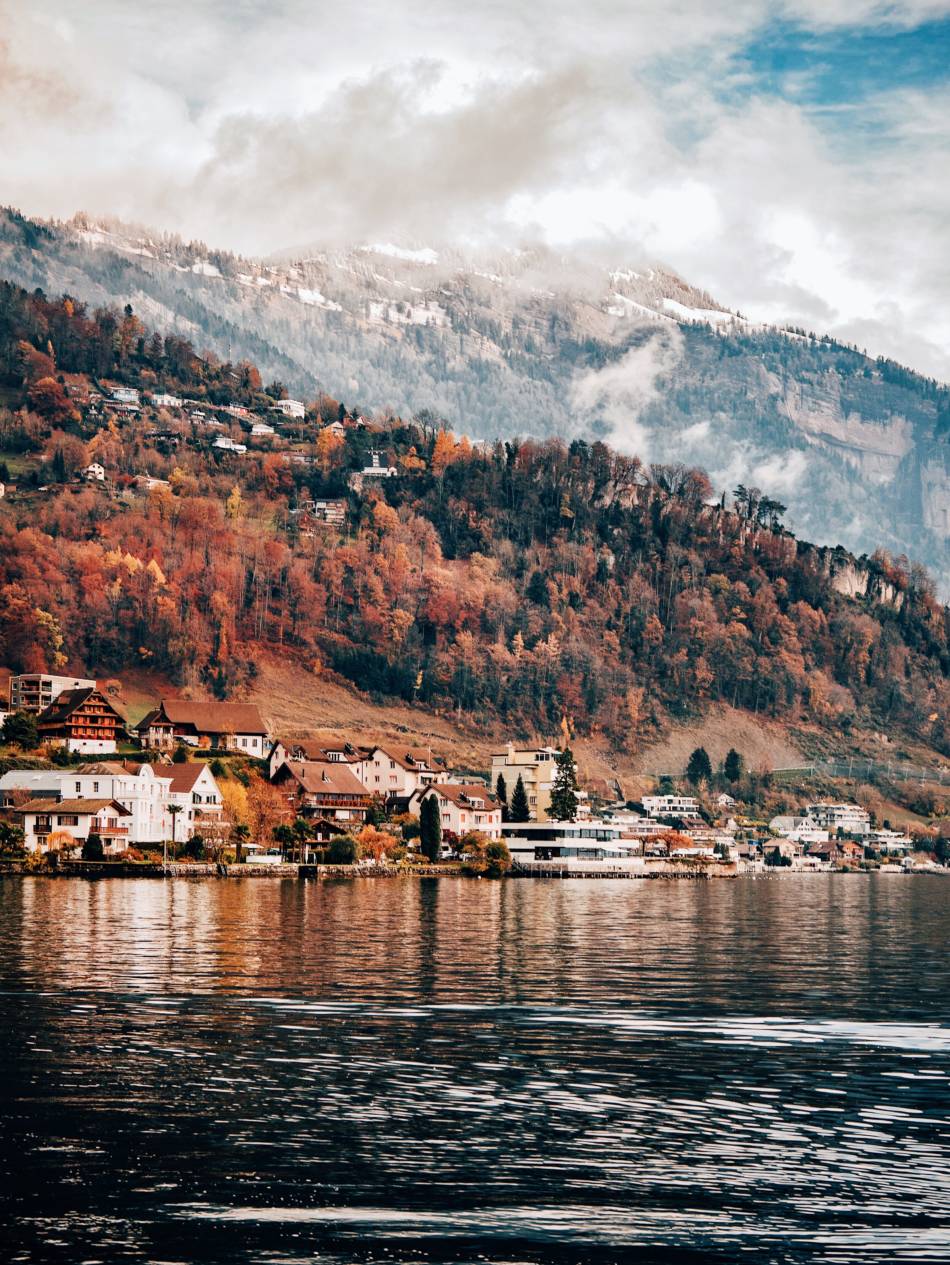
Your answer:
[[[0,214],[0,275],[27,288],[130,302],[307,398],[702,466],[717,492],[744,483],[787,505],[796,533],[907,554],[950,591],[950,391],[932,379],[756,325],[659,267],[539,249],[292,254]]]

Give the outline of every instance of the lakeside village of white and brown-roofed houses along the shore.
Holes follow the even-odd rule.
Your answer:
[[[467,873],[645,877],[939,870],[855,803],[758,821],[693,753],[682,784],[612,801],[578,784],[567,745],[453,769],[429,748],[276,734],[245,702],[161,698],[137,722],[91,678],[13,676],[0,851],[30,864],[460,865]],[[725,774],[737,781],[741,755]],[[691,793],[687,793],[691,792]]]

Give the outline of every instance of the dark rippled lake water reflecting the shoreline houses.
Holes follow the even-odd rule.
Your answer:
[[[0,1259],[950,1261],[949,901],[0,880]]]

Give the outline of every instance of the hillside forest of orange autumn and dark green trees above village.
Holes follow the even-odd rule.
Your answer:
[[[139,412],[110,411],[115,383],[143,391]],[[8,283],[0,387],[13,670],[147,665],[226,696],[280,646],[381,696],[522,731],[567,717],[625,748],[725,700],[950,750],[950,615],[926,574],[797,541],[751,490],[711,505],[701,472],[600,441],[473,447],[326,396],[254,439],[280,388],[252,364]],[[205,419],[249,411],[211,429],[149,405],[159,390]],[[215,448],[221,434],[249,450]],[[397,473],[354,488],[371,450]],[[92,460],[105,479],[80,482]]]

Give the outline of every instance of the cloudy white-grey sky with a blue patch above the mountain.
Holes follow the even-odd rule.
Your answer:
[[[0,201],[605,245],[950,378],[950,0],[0,0]]]

